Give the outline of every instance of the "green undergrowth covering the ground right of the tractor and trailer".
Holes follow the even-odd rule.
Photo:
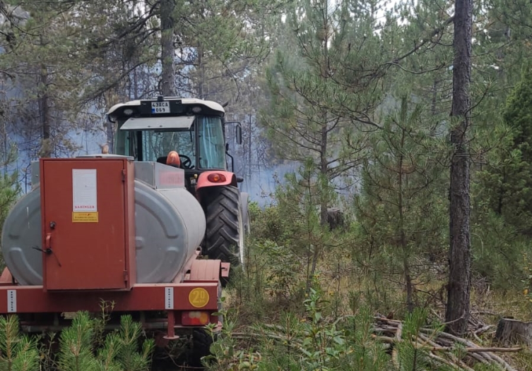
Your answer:
[[[386,263],[394,252],[379,250],[377,243],[370,253],[363,251],[356,224],[341,231],[309,231],[305,224],[292,223],[279,207],[253,205],[251,210],[246,269],[235,269],[224,291],[224,329],[214,339],[213,355],[205,359],[206,370],[501,370],[480,363],[461,367],[466,353],[459,343],[438,360],[429,355],[427,344],[386,341],[375,331],[375,316],[380,315],[403,322],[402,339],[412,339],[420,329],[432,329],[431,336],[437,336],[447,300],[444,262],[422,255],[411,260],[418,274],[413,276],[414,308],[409,311],[404,276]],[[320,242],[325,243],[312,272],[313,243]],[[519,264],[526,271],[526,259]],[[532,301],[522,290],[532,281],[518,273],[521,282],[504,284],[481,270],[473,272],[471,319],[492,328],[468,340],[500,346],[494,334],[501,317],[529,320]],[[527,370],[532,360],[526,350],[497,355],[516,370]]]

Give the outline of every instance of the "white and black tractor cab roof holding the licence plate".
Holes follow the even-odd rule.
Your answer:
[[[169,107],[167,107],[167,111],[154,113],[153,102],[167,102]],[[125,113],[124,110],[128,108],[133,109],[134,113]],[[196,111],[200,108],[201,111]],[[151,99],[135,99],[129,102],[114,104],[114,106],[107,111],[107,116],[110,118],[125,118],[130,116],[179,116],[182,114],[199,114],[200,112],[203,114],[214,114],[216,116],[225,115],[225,110],[222,105],[210,100],[160,96]]]

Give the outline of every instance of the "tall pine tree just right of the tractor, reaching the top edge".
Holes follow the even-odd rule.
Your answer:
[[[312,162],[317,169],[309,181],[319,197],[321,224],[331,190],[347,188],[360,165],[360,128],[376,127],[370,115],[382,75],[371,71],[386,55],[374,32],[379,1],[367,3],[369,11],[348,1],[297,1],[286,21],[292,31],[266,73],[271,103],[262,110],[261,126],[282,159]],[[357,18],[354,11],[360,11]]]

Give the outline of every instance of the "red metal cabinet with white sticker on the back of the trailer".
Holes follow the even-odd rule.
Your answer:
[[[135,283],[134,164],[40,159],[43,286],[128,290]]]

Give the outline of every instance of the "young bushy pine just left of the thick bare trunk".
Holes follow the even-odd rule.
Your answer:
[[[402,97],[382,130],[372,133],[355,199],[365,246],[360,260],[370,269],[399,275],[409,312],[415,307],[416,282],[430,276],[432,264],[442,263],[439,250],[447,236],[440,196],[444,166],[437,161],[439,140],[432,134],[438,124],[423,114],[424,106],[413,107]]]

